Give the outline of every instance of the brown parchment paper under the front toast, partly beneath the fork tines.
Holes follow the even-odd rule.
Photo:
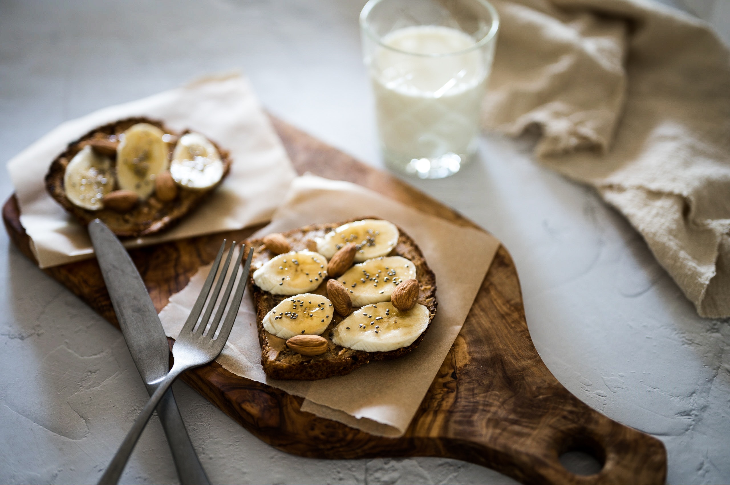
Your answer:
[[[407,429],[464,325],[499,241],[481,230],[423,214],[350,182],[309,174],[294,180],[272,223],[257,236],[366,215],[383,217],[404,228],[436,273],[438,311],[418,349],[400,359],[369,363],[347,376],[320,381],[274,381],[261,368],[256,314],[247,293],[218,362],[239,376],[306,397],[304,411],[375,435],[399,436]],[[180,332],[208,269],[201,268],[160,312],[167,335],[175,337]]]

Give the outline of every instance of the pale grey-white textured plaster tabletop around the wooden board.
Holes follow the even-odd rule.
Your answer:
[[[380,166],[361,0],[0,1],[0,161],[64,120],[242,69],[275,115]],[[670,484],[730,482],[730,325],[700,319],[592,190],[485,136],[450,179],[412,181],[499,237],[548,368],[581,400],[661,439]],[[4,201],[12,187],[0,179]],[[147,395],[122,335],[0,237],[0,483],[95,482]],[[730,298],[730,297],[729,297]],[[450,459],[328,461],[267,446],[174,387],[214,483],[512,483]],[[123,483],[177,483],[158,422]]]

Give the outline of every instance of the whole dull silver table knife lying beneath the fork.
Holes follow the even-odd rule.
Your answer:
[[[101,220],[88,225],[89,236],[107,284],[112,306],[139,375],[152,395],[169,371],[169,346],[164,328],[137,267],[117,236]],[[185,429],[172,388],[157,406],[157,414],[183,485],[210,485]]]

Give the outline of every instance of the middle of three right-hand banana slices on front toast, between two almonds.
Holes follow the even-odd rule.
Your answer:
[[[396,286],[415,278],[415,265],[401,256],[381,256],[356,264],[337,278],[347,291],[353,306],[388,301]]]

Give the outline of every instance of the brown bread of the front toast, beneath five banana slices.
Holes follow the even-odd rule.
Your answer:
[[[334,228],[347,222],[353,222],[361,219],[376,219],[375,217],[361,217],[358,219],[347,220],[343,222],[336,222],[331,224],[315,224],[308,225],[302,228],[293,229],[288,232],[282,233],[282,235],[288,240],[292,251],[301,251],[311,247],[315,238],[324,236]],[[401,228],[399,230],[398,244],[391,251],[388,256],[402,256],[411,260],[416,268],[416,279],[420,287],[418,293],[417,303],[420,303],[429,310],[429,327],[431,322],[434,321],[436,316],[436,275],[426,260],[423,258],[423,254],[415,244],[415,241],[410,238]],[[337,326],[339,322],[342,322],[341,315],[335,313],[333,321],[322,333],[322,337],[327,339],[328,349],[325,353],[315,356],[306,356],[294,352],[286,346],[286,341],[283,338],[279,338],[276,335],[264,330],[264,317],[269,311],[272,311],[274,306],[277,306],[282,300],[290,298],[287,295],[273,295],[270,292],[266,292],[258,288],[253,282],[253,272],[257,268],[261,268],[261,265],[266,263],[274,257],[274,253],[266,249],[264,241],[261,239],[252,239],[246,241],[247,248],[253,248],[253,263],[251,265],[250,273],[250,288],[253,291],[253,302],[256,309],[256,323],[258,324],[258,341],[261,344],[261,364],[264,366],[264,372],[266,376],[273,379],[300,379],[312,381],[315,379],[326,379],[331,376],[342,376],[348,374],[368,362],[375,360],[390,360],[396,357],[401,357],[409,352],[412,352],[420,341],[423,340],[423,336],[426,335],[429,327],[423,330],[416,340],[410,344],[410,346],[402,347],[401,349],[392,350],[390,352],[362,352],[353,349],[346,349],[342,346],[337,346],[332,342],[332,330]],[[248,249],[247,249],[248,250]],[[327,280],[323,281],[322,284],[313,291],[320,295],[327,295]],[[353,308],[353,311],[357,308]]]

